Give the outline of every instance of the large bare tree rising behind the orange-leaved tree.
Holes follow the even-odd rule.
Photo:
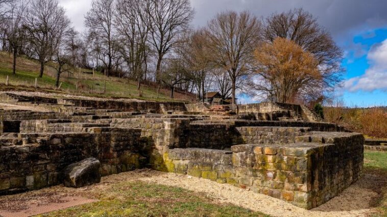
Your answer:
[[[343,52],[329,32],[322,28],[310,13],[303,9],[294,9],[273,14],[265,20],[262,36],[268,42],[273,42],[277,37],[287,38],[312,53],[319,63],[318,68],[323,76],[320,92],[332,92],[334,87],[340,84],[344,72],[341,67]],[[313,95],[316,96],[309,94]]]

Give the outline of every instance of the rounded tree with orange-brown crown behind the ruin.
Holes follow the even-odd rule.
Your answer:
[[[273,101],[295,102],[321,85],[318,61],[292,40],[278,37],[273,43],[264,42],[254,54],[260,82],[253,86]]]

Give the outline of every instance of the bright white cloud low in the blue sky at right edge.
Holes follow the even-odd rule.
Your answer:
[[[346,89],[350,92],[359,90],[387,91],[387,39],[371,48],[367,59],[370,68],[366,70],[365,74],[348,79],[345,82]]]

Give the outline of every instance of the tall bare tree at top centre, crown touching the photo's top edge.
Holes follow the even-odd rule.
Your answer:
[[[150,17],[150,42],[157,53],[156,80],[159,81],[163,57],[177,43],[181,31],[187,28],[194,11],[189,0],[147,0]]]

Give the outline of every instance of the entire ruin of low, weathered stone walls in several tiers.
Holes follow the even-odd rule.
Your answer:
[[[306,107],[238,106],[0,94],[0,194],[63,183],[89,157],[102,176],[139,168],[232,184],[311,209],[355,182],[362,134]],[[44,108],[45,112],[37,112]]]

